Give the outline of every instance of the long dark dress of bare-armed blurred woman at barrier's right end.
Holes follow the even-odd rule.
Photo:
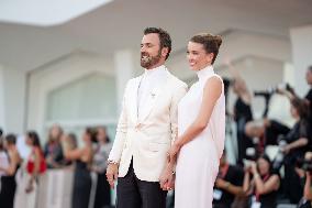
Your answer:
[[[88,164],[76,161],[73,189],[73,208],[88,208],[91,190],[91,176]]]

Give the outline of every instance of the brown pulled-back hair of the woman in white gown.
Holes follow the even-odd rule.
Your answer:
[[[210,33],[200,33],[191,37],[190,42],[200,43],[207,53],[213,53],[212,63],[214,63],[218,54],[219,47],[222,44],[222,37],[220,35],[212,35]]]

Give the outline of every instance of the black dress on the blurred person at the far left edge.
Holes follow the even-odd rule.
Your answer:
[[[16,190],[15,175],[19,168],[20,165],[18,165],[16,171],[13,175],[1,177],[0,207],[14,207],[14,196]]]

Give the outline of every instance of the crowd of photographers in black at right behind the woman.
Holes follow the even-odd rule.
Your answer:
[[[234,113],[227,116],[233,117],[236,124],[238,154],[235,165],[229,164],[226,154],[221,160],[214,186],[214,208],[276,208],[278,204],[311,207],[312,88],[304,98],[290,86],[261,94],[267,106],[263,118],[254,120],[254,95],[237,73],[233,75],[230,86],[237,100]],[[305,78],[312,87],[312,66]],[[289,99],[290,113],[296,121],[293,127],[267,117],[268,99],[272,94]],[[269,146],[275,146],[277,153],[269,154]]]

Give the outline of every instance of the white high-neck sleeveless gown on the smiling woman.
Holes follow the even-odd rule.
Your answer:
[[[218,76],[212,66],[198,72],[199,81],[192,85],[178,106],[179,135],[198,117],[207,80]],[[219,76],[218,76],[219,77]],[[213,185],[225,140],[224,89],[218,99],[207,128],[179,153],[176,167],[175,207],[211,208]]]

